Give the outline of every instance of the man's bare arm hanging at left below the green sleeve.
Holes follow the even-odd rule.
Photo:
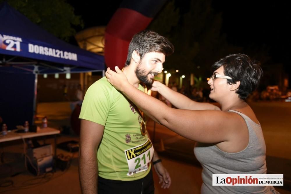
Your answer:
[[[97,193],[97,149],[102,139],[104,126],[81,120],[79,147],[79,178],[82,193]]]

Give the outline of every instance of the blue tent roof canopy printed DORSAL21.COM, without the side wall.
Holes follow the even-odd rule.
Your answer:
[[[104,56],[83,50],[54,37],[33,24],[7,2],[0,5],[0,18],[0,54],[5,55],[5,58],[1,59],[0,68],[1,66],[27,65],[31,64],[30,62],[33,60],[32,62],[40,61],[42,64],[51,64],[51,68],[46,66],[47,69],[54,69],[56,73],[62,71],[62,69],[57,71],[54,68],[56,64],[73,68],[75,71],[79,69],[77,72],[104,70]],[[23,58],[30,59],[30,61],[23,60]],[[37,64],[43,66],[40,63]],[[63,69],[63,71],[67,70]],[[52,73],[52,70],[49,73]]]

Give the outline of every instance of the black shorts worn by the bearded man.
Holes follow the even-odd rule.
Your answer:
[[[116,181],[98,176],[98,194],[154,194],[152,170],[145,177],[135,181]]]

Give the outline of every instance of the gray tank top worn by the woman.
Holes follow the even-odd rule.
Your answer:
[[[249,144],[240,152],[228,153],[215,144],[196,143],[194,154],[201,163],[201,193],[278,193],[273,186],[212,186],[212,174],[266,174],[266,145],[262,128],[248,116],[234,110],[246,121]]]

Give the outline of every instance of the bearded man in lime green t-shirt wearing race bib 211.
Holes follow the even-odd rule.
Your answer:
[[[153,31],[137,33],[123,72],[133,86],[145,91],[140,82],[150,86],[173,51],[165,37]],[[151,161],[162,187],[170,186],[171,178],[146,133],[143,113],[106,77],[88,88],[79,118],[83,193],[154,193]]]

